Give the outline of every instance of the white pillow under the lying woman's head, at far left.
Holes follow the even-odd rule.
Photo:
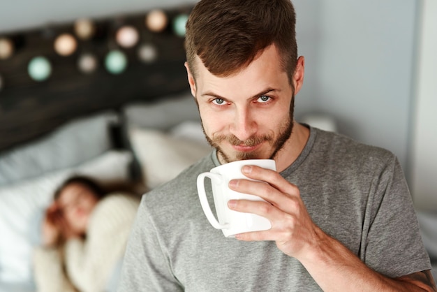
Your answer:
[[[76,168],[0,187],[0,283],[33,282],[31,252],[40,219],[53,192],[71,175],[87,175],[105,183],[129,180],[131,152],[110,150]]]

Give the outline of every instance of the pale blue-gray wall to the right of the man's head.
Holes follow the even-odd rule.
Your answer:
[[[297,115],[333,115],[341,133],[390,149],[407,168],[416,1],[294,3],[307,60]]]

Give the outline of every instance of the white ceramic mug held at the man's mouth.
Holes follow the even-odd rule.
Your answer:
[[[272,159],[249,159],[239,160],[223,164],[212,168],[207,173],[198,175],[198,194],[203,212],[209,223],[216,229],[221,229],[225,237],[234,237],[235,234],[250,231],[264,231],[272,228],[272,224],[265,217],[257,214],[242,213],[230,210],[229,200],[263,200],[259,196],[243,194],[229,189],[228,184],[233,179],[251,180],[244,176],[242,167],[245,165],[255,165],[262,168],[276,170],[276,163]],[[205,177],[211,180],[212,194],[218,220],[214,217],[211,207],[209,207],[205,192]]]

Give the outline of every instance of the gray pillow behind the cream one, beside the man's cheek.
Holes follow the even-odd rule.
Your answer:
[[[154,103],[130,103],[123,108],[129,126],[167,131],[186,121],[200,122],[198,106],[190,92],[166,96]]]

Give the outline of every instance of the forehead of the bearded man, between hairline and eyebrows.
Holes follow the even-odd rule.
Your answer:
[[[290,87],[288,75],[274,47],[267,47],[248,66],[227,76],[210,73],[199,57],[195,59],[198,94],[214,92],[221,96],[252,96],[266,88],[281,91]]]

